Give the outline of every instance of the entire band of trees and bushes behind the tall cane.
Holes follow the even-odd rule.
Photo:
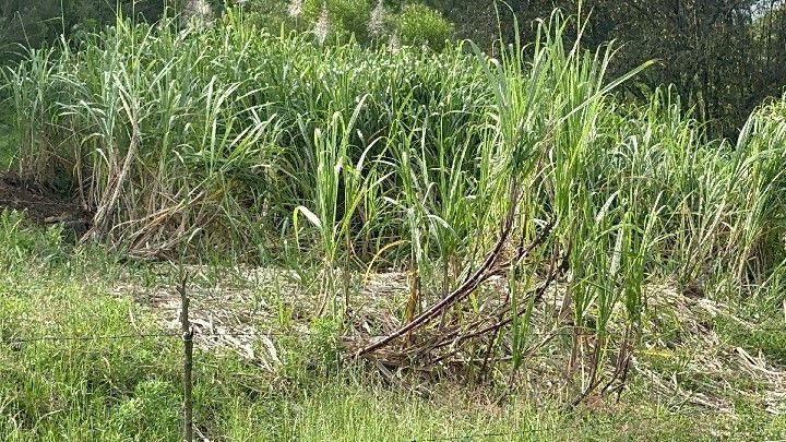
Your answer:
[[[19,45],[40,47],[64,34],[74,43],[85,32],[115,22],[119,8],[126,15],[155,21],[166,8],[172,13],[194,3],[218,13],[221,0],[0,0],[0,48],[13,60]],[[696,108],[713,136],[736,136],[750,112],[769,97],[779,97],[786,84],[786,2],[784,0],[247,0],[242,2],[260,26],[272,32],[310,32],[324,8],[330,38],[349,35],[362,44],[426,45],[442,50],[449,38],[469,38],[495,52],[501,35],[515,38],[514,16],[523,41],[534,39],[534,23],[555,7],[592,14],[585,47],[609,40],[623,45],[615,57],[611,75],[656,59],[636,83],[626,87],[630,97],[645,99],[655,87],[672,84],[683,111]],[[293,15],[293,5],[298,13]],[[374,10],[384,20],[371,25]],[[576,29],[574,29],[575,33]],[[567,36],[571,38],[569,34]]]

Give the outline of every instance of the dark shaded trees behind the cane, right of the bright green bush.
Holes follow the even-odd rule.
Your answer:
[[[534,38],[532,23],[548,20],[555,7],[591,12],[584,40],[596,48],[609,40],[623,47],[614,73],[657,59],[638,86],[675,84],[684,106],[698,108],[713,134],[734,135],[750,111],[786,85],[784,0],[426,0],[456,24],[461,38],[489,50],[499,38]],[[499,19],[496,8],[499,10]],[[575,29],[574,29],[575,31]],[[574,34],[573,34],[574,35]],[[572,37],[573,35],[569,36]],[[612,75],[614,76],[614,75]],[[628,91],[641,95],[641,88]]]

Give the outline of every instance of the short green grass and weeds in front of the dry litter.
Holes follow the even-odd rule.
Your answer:
[[[162,333],[154,312],[112,295],[119,264],[96,249],[61,243],[8,212],[0,216],[0,433],[8,441],[175,441],[180,431],[177,337],[16,342],[41,336]],[[275,370],[227,351],[199,351],[201,432],[227,441],[776,440],[786,416],[741,401],[733,414],[674,409],[634,381],[619,404],[558,408],[548,398],[496,404],[483,387],[436,386],[427,396],[384,386],[364,368],[338,368],[332,336],[273,336]],[[327,331],[325,331],[327,330]],[[743,341],[750,335],[738,334]],[[786,339],[774,343],[786,351]],[[493,437],[481,434],[496,434]]]

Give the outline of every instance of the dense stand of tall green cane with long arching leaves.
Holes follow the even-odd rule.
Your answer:
[[[457,285],[507,214],[522,241],[556,223],[512,277],[534,284],[565,256],[553,326],[595,331],[600,360],[609,327],[641,325],[648,278],[746,290],[781,268],[786,111],[706,140],[670,89],[618,103],[647,65],[607,77],[614,46],[583,50],[571,24],[556,12],[492,59],[317,47],[231,9],[205,29],[118,21],[76,50],[31,51],[3,87],[20,172],[64,175],[91,235],[139,254],[315,255],[333,311],[337,266],[345,303],[350,270],[410,270],[415,309]]]

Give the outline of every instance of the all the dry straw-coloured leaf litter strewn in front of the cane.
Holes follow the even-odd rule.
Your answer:
[[[156,264],[155,275],[126,275],[114,287],[117,296],[130,296],[160,318],[162,327],[177,332],[180,300],[175,289],[171,265]],[[308,335],[308,316],[298,309],[308,311],[317,304],[314,294],[303,276],[293,271],[276,268],[237,266],[221,273],[205,266],[190,265],[184,271],[192,275],[189,286],[191,295],[191,322],[195,328],[195,345],[203,350],[230,350],[240,358],[274,372],[281,365],[282,339]],[[308,278],[307,278],[308,279]],[[352,309],[347,312],[347,327],[342,341],[347,355],[357,351],[380,336],[402,326],[409,292],[410,275],[401,272],[353,275]],[[597,336],[583,333],[565,323],[558,324],[562,314],[571,316],[563,308],[567,284],[556,282],[541,297],[532,316],[525,339],[526,360],[523,369],[505,382],[515,385],[532,397],[563,395],[581,390],[581,375],[592,366],[592,349],[598,343]],[[477,311],[481,324],[497,321],[501,299],[507,288],[501,282],[490,280],[484,288]],[[739,395],[757,401],[769,413],[786,411],[786,368],[779,367],[765,356],[739,346],[724,343],[715,330],[707,324],[707,318],[727,316],[741,330],[754,330],[755,324],[734,315],[734,309],[710,298],[683,296],[672,282],[650,284],[645,287],[651,318],[641,336],[634,341],[630,358],[631,373],[640,383],[648,384],[652,392],[671,398],[671,406],[686,404],[712,408],[726,413],[734,409],[734,398]],[[336,297],[341,297],[336,294]],[[286,326],[281,324],[285,311]],[[405,337],[405,345],[391,346],[373,354],[370,361],[380,374],[395,384],[428,385],[436,379],[460,379],[468,367],[478,367],[488,361],[478,357],[478,349],[490,341],[478,337],[472,346],[462,346],[466,330],[461,322],[446,316],[431,333]],[[669,331],[677,326],[677,330]],[[622,328],[609,331],[612,336],[606,343],[616,348],[624,334]],[[508,332],[500,335],[499,345],[510,348]],[[421,358],[430,351],[428,358]],[[420,358],[420,359],[418,359]],[[509,363],[510,354],[497,353],[492,362]],[[602,377],[614,378],[614,357],[607,358]],[[409,374],[405,374],[405,373]],[[413,380],[412,374],[416,374]],[[434,378],[436,377],[436,378]],[[737,385],[739,378],[760,385],[760,389],[745,389]],[[608,391],[623,391],[623,381],[609,385]],[[598,401],[599,393],[587,397]]]

